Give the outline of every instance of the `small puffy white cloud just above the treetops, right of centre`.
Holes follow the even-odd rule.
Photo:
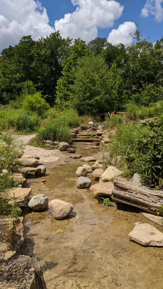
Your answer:
[[[117,29],[112,29],[112,31],[109,33],[107,40],[108,42],[111,42],[113,45],[119,43],[129,45],[133,41],[130,33],[134,33],[135,28],[136,25],[134,22],[126,21],[123,24],[120,24]]]

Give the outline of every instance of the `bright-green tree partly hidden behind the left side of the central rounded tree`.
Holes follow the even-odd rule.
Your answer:
[[[62,76],[57,81],[56,104],[60,108],[68,106],[71,85],[74,81],[73,68],[77,66],[78,59],[90,55],[90,51],[85,41],[80,38],[74,40],[74,45],[69,49],[69,55],[66,55],[62,62]]]

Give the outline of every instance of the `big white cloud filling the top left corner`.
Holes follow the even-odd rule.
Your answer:
[[[39,1],[0,0],[0,7],[0,51],[17,44],[22,36],[37,40],[55,31]]]

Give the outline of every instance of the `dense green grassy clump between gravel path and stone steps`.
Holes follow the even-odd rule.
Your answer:
[[[70,128],[57,119],[47,119],[38,130],[40,140],[68,141],[71,138]]]

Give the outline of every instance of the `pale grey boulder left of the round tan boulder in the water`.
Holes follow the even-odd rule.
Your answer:
[[[37,212],[42,211],[47,207],[48,200],[49,199],[43,194],[36,195],[32,197],[32,199],[30,199],[28,203],[28,207],[32,211],[37,211]]]

